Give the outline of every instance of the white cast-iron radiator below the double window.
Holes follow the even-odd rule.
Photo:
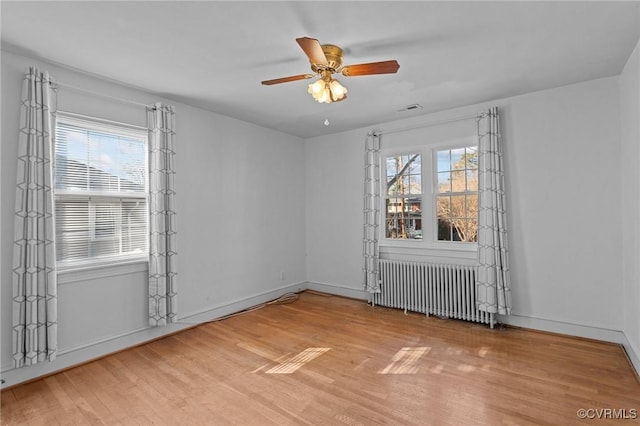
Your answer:
[[[476,267],[381,259],[380,293],[374,305],[438,317],[495,324],[494,314],[476,308]]]

